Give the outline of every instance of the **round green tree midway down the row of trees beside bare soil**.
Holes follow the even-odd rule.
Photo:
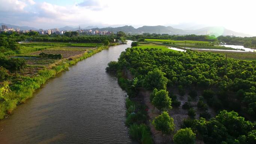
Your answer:
[[[171,109],[171,98],[168,96],[168,92],[166,90],[160,90],[156,92],[153,101],[153,105],[158,108],[158,110],[162,111],[164,109]]]

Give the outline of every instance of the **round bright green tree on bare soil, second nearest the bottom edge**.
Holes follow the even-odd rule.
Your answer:
[[[164,111],[161,115],[157,116],[152,124],[155,126],[156,130],[162,131],[162,134],[171,134],[174,131],[173,118]]]

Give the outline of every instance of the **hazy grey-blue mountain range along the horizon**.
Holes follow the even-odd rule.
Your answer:
[[[28,26],[16,26],[16,25],[9,25],[0,23],[0,25],[7,25],[8,28],[19,28],[20,30],[39,30],[38,28],[28,27]],[[125,33],[131,34],[142,34],[142,33],[156,33],[156,34],[178,34],[178,35],[186,35],[186,34],[195,34],[195,35],[215,35],[215,36],[239,36],[239,37],[252,37],[249,34],[238,33],[232,30],[228,30],[224,27],[204,27],[195,30],[182,30],[179,28],[173,28],[171,26],[165,27],[162,25],[157,26],[143,26],[139,28],[134,28],[132,26],[125,25],[123,27],[105,27],[105,28],[98,28],[97,26],[88,26],[84,28],[80,28],[81,30],[100,30],[100,31],[112,31],[116,33],[117,31],[124,31]],[[79,28],[65,26],[59,28],[59,30],[63,31],[76,31]]]

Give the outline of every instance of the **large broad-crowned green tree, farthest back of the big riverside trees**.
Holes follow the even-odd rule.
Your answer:
[[[149,71],[144,79],[143,87],[146,89],[166,89],[168,79],[161,70]]]

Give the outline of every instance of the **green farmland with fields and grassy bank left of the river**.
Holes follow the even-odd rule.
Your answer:
[[[108,45],[116,45],[112,41],[107,41],[106,45],[106,40],[116,36],[72,36],[68,43],[54,42],[54,39],[65,41],[65,36],[50,36],[49,39],[53,39],[51,43],[29,42],[38,37],[49,36],[0,34],[0,119],[7,118],[17,105],[31,98],[33,92],[48,79],[68,70],[77,61],[108,48]],[[78,39],[93,43],[69,42]],[[17,43],[19,40],[27,42]]]

